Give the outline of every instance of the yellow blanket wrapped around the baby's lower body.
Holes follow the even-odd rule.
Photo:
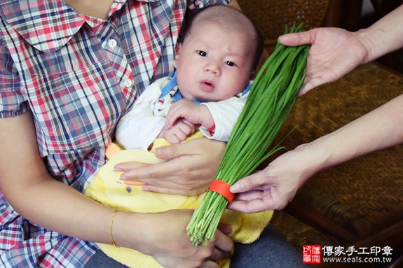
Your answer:
[[[165,141],[165,140],[164,140]],[[165,143],[164,141],[160,141]],[[154,145],[154,148],[156,146]],[[126,185],[119,179],[121,172],[114,172],[114,166],[121,162],[141,162],[154,164],[161,162],[153,153],[143,150],[120,150],[109,159],[86,189],[86,195],[116,209],[133,212],[159,212],[170,209],[196,209],[203,200],[203,195],[186,197],[165,195],[142,191],[141,185]],[[235,242],[249,244],[255,241],[264,227],[271,220],[273,211],[245,214],[226,210],[221,223],[230,224],[230,237]],[[110,258],[132,268],[161,268],[149,255],[144,255],[130,248],[97,244]],[[230,260],[221,260],[220,268],[229,267]]]

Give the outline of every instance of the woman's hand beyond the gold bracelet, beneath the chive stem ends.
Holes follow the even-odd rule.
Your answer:
[[[193,246],[186,235],[186,226],[192,213],[191,210],[135,213],[135,218],[132,218],[132,226],[135,230],[128,234],[127,223],[130,224],[130,220],[124,220],[123,217],[125,215],[130,217],[133,214],[119,212],[116,214],[116,223],[114,223],[116,244],[129,246],[151,255],[160,265],[167,268],[218,267],[214,260],[231,258],[233,241],[217,230],[214,238],[210,239],[206,245]],[[118,232],[118,230],[126,231]],[[230,231],[228,226],[225,226],[224,230],[226,233]],[[138,236],[139,232],[142,235]],[[139,237],[142,237],[142,241],[137,241]]]

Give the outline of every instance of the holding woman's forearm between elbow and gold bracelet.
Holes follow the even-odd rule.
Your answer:
[[[22,197],[18,192],[25,194]],[[109,223],[114,209],[53,178],[16,185],[5,194],[18,213],[32,223],[71,237],[111,243]]]

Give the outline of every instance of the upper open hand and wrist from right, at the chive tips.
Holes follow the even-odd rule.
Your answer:
[[[367,29],[350,32],[340,28],[316,28],[280,36],[284,45],[310,44],[308,69],[300,95],[339,80],[360,64],[403,47],[400,6]]]

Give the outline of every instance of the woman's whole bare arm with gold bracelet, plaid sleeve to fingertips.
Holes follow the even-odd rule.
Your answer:
[[[0,118],[0,189],[21,216],[50,230],[88,241],[111,244],[114,209],[50,177],[36,145],[30,112]],[[22,195],[23,193],[23,195]],[[165,267],[216,267],[228,258],[232,241],[217,231],[207,246],[191,246],[186,225],[193,211],[118,212],[116,244],[152,255]],[[161,225],[160,223],[164,223]]]

